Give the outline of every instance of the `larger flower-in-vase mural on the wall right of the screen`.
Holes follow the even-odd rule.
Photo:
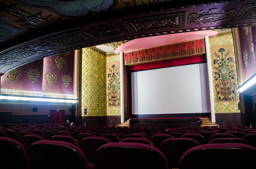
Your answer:
[[[229,57],[230,51],[226,51],[225,48],[220,48],[218,53],[215,52],[216,57],[213,60],[215,72],[215,89],[217,91],[217,101],[235,100],[235,87],[236,83],[232,82],[235,74],[234,70],[231,70],[233,65],[233,58]]]

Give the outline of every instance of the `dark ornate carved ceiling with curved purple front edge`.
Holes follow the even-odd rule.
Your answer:
[[[255,25],[255,0],[0,0],[0,74],[83,47]]]

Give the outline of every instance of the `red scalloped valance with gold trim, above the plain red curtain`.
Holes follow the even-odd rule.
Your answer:
[[[127,52],[124,53],[123,60],[125,65],[129,65],[201,53],[205,53],[204,39]]]

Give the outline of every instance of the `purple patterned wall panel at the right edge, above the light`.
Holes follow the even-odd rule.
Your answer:
[[[243,82],[256,73],[256,26],[238,28]]]

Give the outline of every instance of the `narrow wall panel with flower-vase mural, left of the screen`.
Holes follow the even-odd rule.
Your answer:
[[[106,58],[107,116],[121,116],[120,106],[120,54],[109,54]]]

